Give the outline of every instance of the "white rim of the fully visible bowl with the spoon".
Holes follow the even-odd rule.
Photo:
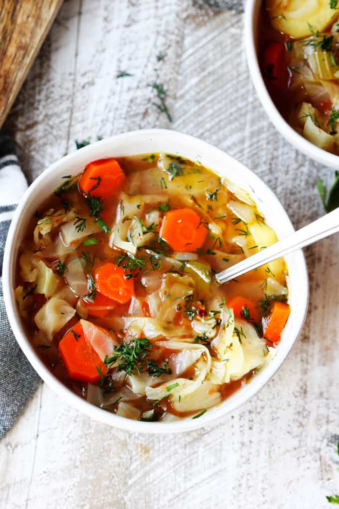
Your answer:
[[[3,290],[4,290],[4,300],[6,305],[6,310],[9,318],[10,325],[12,327],[13,333],[16,337],[16,340],[21,347],[23,353],[30,361],[34,369],[38,372],[40,377],[49,385],[54,392],[60,395],[68,404],[74,406],[78,410],[83,413],[89,415],[90,417],[104,422],[110,426],[114,426],[120,429],[124,429],[132,432],[143,432],[143,433],[180,433],[185,431],[194,430],[197,428],[202,428],[206,426],[211,421],[220,419],[222,416],[230,413],[236,408],[240,407],[246,401],[248,401],[254,394],[256,394],[276,373],[281,364],[285,361],[287,355],[295,344],[297,337],[302,329],[306,312],[307,312],[307,304],[308,304],[308,275],[307,268],[304,259],[303,252],[301,250],[295,251],[289,257],[292,257],[294,262],[292,262],[291,258],[291,266],[294,263],[298,266],[298,285],[296,285],[296,293],[298,293],[298,305],[299,313],[296,317],[295,322],[293,322],[292,327],[294,327],[294,332],[292,336],[286,337],[284,342],[281,342],[279,349],[277,351],[277,355],[275,358],[265,367],[262,373],[258,374],[254,377],[250,384],[242,387],[235,394],[233,394],[227,400],[224,400],[219,406],[211,408],[208,412],[206,412],[199,419],[183,419],[174,422],[144,422],[144,421],[135,421],[131,419],[127,419],[125,417],[118,416],[116,414],[104,411],[101,408],[98,408],[86,400],[80,398],[77,394],[68,389],[62,382],[60,382],[54,375],[47,369],[47,367],[43,364],[43,362],[38,357],[37,353],[35,353],[31,343],[25,335],[24,327],[19,319],[19,314],[17,310],[17,305],[14,297],[14,288],[12,287],[12,275],[14,270],[14,264],[16,263],[15,256],[15,240],[16,237],[19,236],[20,228],[17,228],[17,225],[20,221],[20,218],[24,216],[25,209],[29,207],[32,203],[32,196],[38,191],[41,184],[44,183],[46,179],[50,176],[54,176],[55,173],[58,174],[58,178],[60,178],[65,172],[65,166],[76,163],[78,160],[83,160],[86,158],[88,162],[96,157],[95,154],[102,153],[103,150],[114,151],[115,145],[119,144],[119,142],[129,143],[135,139],[149,139],[154,142],[154,140],[158,140],[161,142],[163,146],[165,144],[172,145],[185,145],[191,146],[192,149],[197,150],[197,154],[207,153],[211,158],[215,158],[217,160],[222,161],[222,164],[231,163],[236,168],[237,173],[240,173],[241,177],[246,177],[250,184],[253,186],[257,186],[258,189],[261,190],[261,193],[265,194],[267,197],[267,201],[274,202],[274,207],[276,213],[279,213],[281,217],[283,217],[285,221],[285,229],[289,233],[294,232],[293,225],[283,208],[280,204],[279,200],[275,196],[275,194],[268,188],[268,186],[250,169],[244,166],[241,162],[239,162],[234,157],[229,154],[221,151],[220,149],[200,140],[199,138],[190,136],[188,134],[183,134],[177,131],[167,130],[167,129],[144,129],[137,131],[129,131],[126,133],[118,134],[116,136],[111,136],[109,138],[100,140],[94,144],[91,144],[87,147],[84,147],[72,154],[69,154],[51,164],[45,171],[43,171],[40,176],[30,185],[30,187],[24,193],[12,219],[10,224],[8,237],[5,246],[4,252],[4,264],[3,264]],[[172,140],[172,142],[168,142],[168,139]],[[170,150],[165,150],[170,152]],[[172,150],[172,153],[178,153]],[[152,151],[151,151],[152,152]],[[134,152],[136,153],[136,152]],[[93,156],[91,155],[93,154]],[[115,155],[115,157],[118,157]],[[186,156],[188,157],[188,156]],[[80,166],[80,163],[78,164]],[[216,171],[216,168],[212,168]],[[73,172],[75,174],[75,172]],[[251,187],[251,185],[249,187]],[[253,191],[254,192],[254,191]],[[258,204],[258,199],[256,199],[256,203]],[[36,206],[36,205],[35,205]],[[285,257],[288,260],[288,257]],[[289,264],[288,264],[289,265]],[[289,267],[289,272],[291,272],[291,268]],[[283,346],[281,346],[283,345]],[[280,353],[281,352],[281,353]]]

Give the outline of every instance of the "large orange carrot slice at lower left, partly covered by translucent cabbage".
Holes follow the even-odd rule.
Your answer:
[[[97,366],[103,376],[106,374],[106,367],[94,348],[86,341],[80,322],[62,338],[59,343],[59,352],[67,373],[74,380],[98,382],[100,375]]]

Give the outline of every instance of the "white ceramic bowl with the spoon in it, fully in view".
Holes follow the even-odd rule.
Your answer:
[[[302,328],[307,309],[308,279],[302,251],[294,252],[286,257],[291,281],[291,314],[275,358],[262,373],[252,379],[251,383],[242,387],[218,407],[208,410],[199,419],[188,418],[168,423],[134,421],[87,403],[56,379],[39,359],[29,342],[14,297],[17,254],[20,243],[25,237],[27,222],[42,201],[60,185],[62,176],[78,174],[87,163],[95,159],[152,152],[168,152],[193,161],[200,161],[217,174],[228,177],[252,195],[259,210],[279,238],[293,233],[291,221],[277,197],[254,173],[230,155],[197,138],[175,131],[162,129],[132,131],[104,139],[63,157],[49,166],[27,189],[15,211],[8,233],[3,266],[3,287],[8,317],[20,347],[41,378],[67,403],[94,419],[125,430],[175,433],[201,428],[212,420],[231,412],[258,392],[284,362]]]

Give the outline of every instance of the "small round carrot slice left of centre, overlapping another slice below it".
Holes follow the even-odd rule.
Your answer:
[[[94,272],[94,279],[100,293],[120,304],[134,295],[133,278],[126,279],[124,269],[115,263],[100,265]]]

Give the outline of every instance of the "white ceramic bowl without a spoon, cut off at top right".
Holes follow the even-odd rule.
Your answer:
[[[257,54],[257,34],[259,13],[264,0],[246,0],[245,9],[245,48],[249,72],[256,88],[259,99],[264,106],[266,113],[276,129],[301,152],[315,161],[326,166],[338,169],[339,157],[326,150],[320,149],[313,143],[295,131],[286,120],[280,115],[275,107],[261,74]]]

